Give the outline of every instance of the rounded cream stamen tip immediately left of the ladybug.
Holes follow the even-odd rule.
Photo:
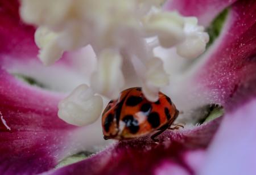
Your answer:
[[[85,126],[100,117],[102,105],[102,97],[94,95],[92,89],[82,84],[60,101],[58,116],[69,124]]]

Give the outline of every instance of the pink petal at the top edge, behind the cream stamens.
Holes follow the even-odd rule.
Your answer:
[[[167,10],[177,10],[184,16],[196,16],[199,23],[208,26],[226,7],[237,0],[182,0],[166,2]]]

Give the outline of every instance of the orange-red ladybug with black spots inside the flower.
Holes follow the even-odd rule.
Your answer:
[[[170,97],[162,92],[152,103],[144,97],[141,87],[129,88],[121,92],[118,100],[111,100],[102,113],[104,139],[132,139],[156,131],[151,139],[158,142],[156,137],[172,129],[178,115]]]

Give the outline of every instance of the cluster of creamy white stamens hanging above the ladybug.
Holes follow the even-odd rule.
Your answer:
[[[92,93],[86,97],[88,104],[100,101],[94,99],[95,93],[117,99],[122,89],[133,84],[126,81],[130,77],[135,77],[131,79],[134,84],[141,86],[144,96],[154,102],[160,88],[170,81],[163,59],[154,49],[176,48],[181,57],[192,59],[204,52],[209,41],[195,17],[164,11],[161,4],[156,0],[22,0],[20,14],[25,22],[38,25],[35,42],[44,65],[51,65],[66,51],[92,46],[98,66],[89,75],[88,88]],[[131,69],[124,72],[127,62]],[[76,117],[84,113],[96,116],[95,110],[102,105],[81,109],[85,104],[77,93],[80,88],[59,105],[59,115],[69,123],[81,125]],[[90,122],[88,119],[82,123]]]

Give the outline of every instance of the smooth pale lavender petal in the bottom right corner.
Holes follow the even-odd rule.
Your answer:
[[[222,120],[200,174],[256,174],[256,100]]]

